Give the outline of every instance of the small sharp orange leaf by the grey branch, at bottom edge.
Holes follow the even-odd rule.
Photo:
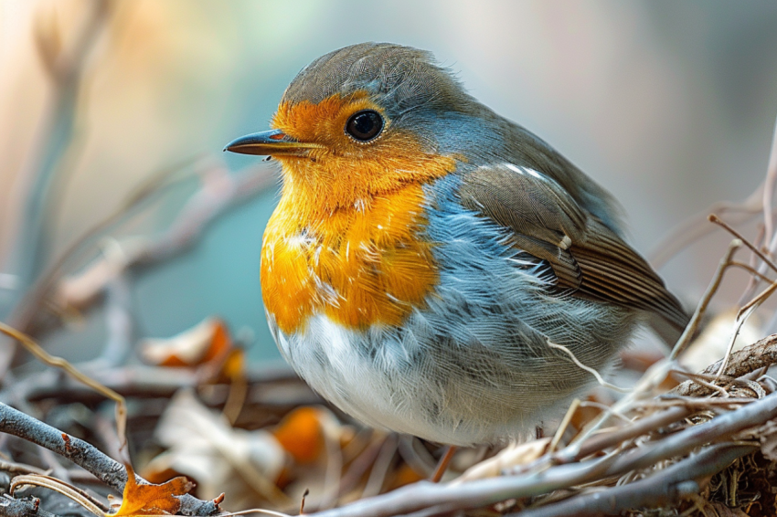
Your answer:
[[[194,483],[178,476],[161,485],[139,485],[135,481],[132,465],[127,468],[127,484],[124,485],[122,506],[116,513],[106,513],[106,517],[128,517],[131,515],[175,514],[181,508],[181,496],[192,490]]]

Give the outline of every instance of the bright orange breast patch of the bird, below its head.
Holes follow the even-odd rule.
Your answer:
[[[348,328],[397,325],[423,305],[438,274],[420,184],[325,215],[304,201],[284,189],[264,233],[262,298],[283,332],[318,313]]]

